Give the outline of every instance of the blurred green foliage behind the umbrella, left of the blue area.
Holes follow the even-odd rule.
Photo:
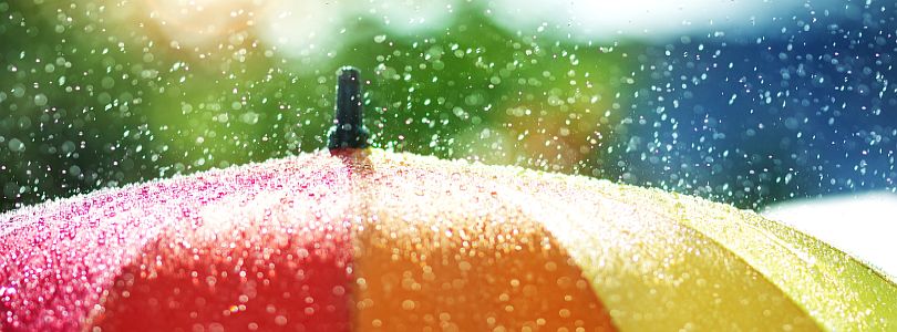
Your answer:
[[[339,43],[296,54],[240,15],[184,42],[144,6],[0,2],[0,208],[320,149],[340,65],[368,80],[374,146],[617,175],[604,154],[630,46],[508,32],[465,3],[405,35],[350,18]]]

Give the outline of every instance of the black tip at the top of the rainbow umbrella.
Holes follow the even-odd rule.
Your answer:
[[[337,118],[330,129],[330,149],[368,147],[368,128],[364,127],[363,100],[361,97],[361,72],[352,66],[337,71]]]

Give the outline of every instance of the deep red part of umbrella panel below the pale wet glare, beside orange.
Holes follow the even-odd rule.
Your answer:
[[[104,331],[349,330],[348,228],[289,239],[244,231],[199,248],[177,242],[165,237],[126,267],[89,323]]]

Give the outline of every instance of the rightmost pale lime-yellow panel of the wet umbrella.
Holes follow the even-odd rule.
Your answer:
[[[753,212],[685,196],[652,196],[674,207],[683,225],[754,266],[826,328],[897,329],[897,287],[844,252]]]

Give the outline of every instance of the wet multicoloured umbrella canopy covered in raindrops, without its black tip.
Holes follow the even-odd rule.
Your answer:
[[[0,216],[18,330],[888,330],[897,287],[753,212],[377,149]]]

